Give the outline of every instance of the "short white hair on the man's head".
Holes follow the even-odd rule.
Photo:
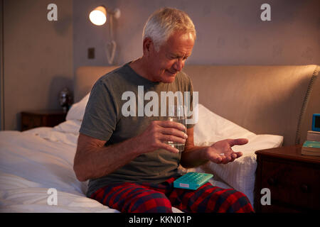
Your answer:
[[[183,11],[172,8],[162,8],[149,16],[144,26],[142,40],[151,38],[154,48],[159,51],[160,46],[176,31],[191,33],[196,39],[196,29],[191,18]]]

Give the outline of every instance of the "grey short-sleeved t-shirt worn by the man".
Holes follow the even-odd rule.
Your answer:
[[[181,91],[183,94],[190,92],[192,101],[191,79],[183,72],[179,72],[172,83],[151,82],[139,76],[127,63],[100,77],[92,87],[80,133],[99,140],[106,140],[105,146],[133,138],[141,134],[151,121],[166,119],[165,116],[161,116],[161,92],[170,91],[174,93]],[[142,111],[142,104],[146,106],[153,100],[153,98],[148,99],[144,96],[146,92],[158,94],[159,114],[146,116],[146,113]],[[127,116],[130,111],[134,111],[131,109],[132,106],[128,107],[129,100],[135,103],[135,113],[131,116]],[[123,105],[126,107],[124,111],[122,111]],[[187,128],[191,127],[193,125],[187,125]],[[93,192],[107,184],[119,182],[159,183],[170,177],[177,177],[180,158],[181,154],[174,154],[164,149],[139,155],[109,175],[90,179],[87,196],[91,196]]]

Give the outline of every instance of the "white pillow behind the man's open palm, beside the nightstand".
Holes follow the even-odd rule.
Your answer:
[[[233,146],[233,150],[243,153],[242,157],[233,162],[225,165],[207,162],[206,165],[188,171],[203,172],[203,170],[210,170],[213,175],[247,195],[253,204],[255,170],[257,168],[255,151],[277,148],[282,145],[283,137],[279,135],[256,135],[214,114],[201,104],[199,104],[198,110],[198,123],[194,126],[193,133],[195,145],[212,145],[219,140],[227,138],[247,138],[249,143]]]

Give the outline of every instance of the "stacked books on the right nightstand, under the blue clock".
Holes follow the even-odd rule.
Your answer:
[[[308,131],[301,153],[302,155],[320,156],[320,132]]]

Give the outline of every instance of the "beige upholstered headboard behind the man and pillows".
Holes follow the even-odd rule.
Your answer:
[[[116,67],[79,67],[75,101],[95,81]],[[318,65],[212,66],[187,65],[199,103],[257,134],[284,136],[284,145],[302,143],[311,116],[320,113]]]

